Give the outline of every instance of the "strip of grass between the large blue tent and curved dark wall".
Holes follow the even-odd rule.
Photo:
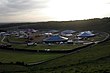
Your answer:
[[[68,44],[68,45],[44,45],[44,44],[38,44],[37,46],[27,46],[26,44],[13,44],[13,48],[18,49],[30,49],[30,50],[69,50],[69,49],[75,49],[77,47],[82,46],[82,44]]]

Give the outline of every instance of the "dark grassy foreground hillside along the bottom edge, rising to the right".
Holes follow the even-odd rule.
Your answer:
[[[83,48],[75,53],[44,62],[22,66],[0,64],[5,73],[110,73],[110,40]]]

